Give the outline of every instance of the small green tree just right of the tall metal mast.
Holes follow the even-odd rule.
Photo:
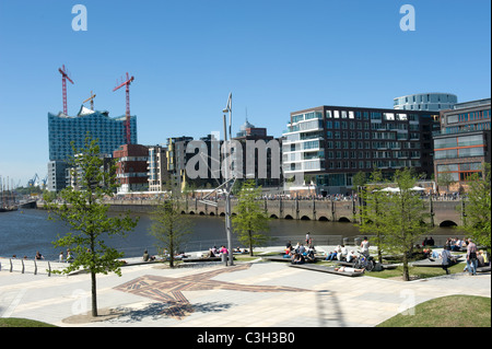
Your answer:
[[[270,230],[269,218],[265,212],[261,197],[261,187],[256,188],[254,181],[246,181],[238,194],[237,205],[234,208],[235,217],[232,218],[233,230],[238,234],[239,242],[249,246],[249,255],[253,248],[265,246]]]

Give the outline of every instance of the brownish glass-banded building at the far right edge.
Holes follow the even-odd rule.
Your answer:
[[[491,98],[456,104],[441,112],[441,130],[434,132],[435,177],[450,174],[466,182],[491,161]]]

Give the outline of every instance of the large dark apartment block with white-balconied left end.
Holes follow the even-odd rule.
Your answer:
[[[413,167],[431,177],[438,113],[319,106],[291,113],[284,131],[285,177],[315,177],[317,194],[348,193],[352,176]]]

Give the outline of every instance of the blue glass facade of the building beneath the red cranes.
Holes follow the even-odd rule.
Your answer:
[[[82,109],[81,109],[82,110]],[[71,142],[79,149],[84,146],[85,137],[98,140],[103,154],[112,154],[126,143],[126,117],[110,118],[108,112],[90,110],[71,117],[65,114],[48,113],[49,160],[67,161],[73,155]],[[131,116],[131,143],[137,143],[137,117]]]

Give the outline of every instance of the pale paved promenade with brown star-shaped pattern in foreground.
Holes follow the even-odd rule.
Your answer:
[[[63,327],[373,327],[434,298],[491,296],[491,276],[455,274],[403,282],[371,274],[349,278],[303,270],[260,258],[232,267],[137,265],[124,267],[121,277],[97,277],[99,314],[114,313],[97,322],[82,315],[90,311],[90,288],[89,275],[9,272],[3,264],[0,316]]]

